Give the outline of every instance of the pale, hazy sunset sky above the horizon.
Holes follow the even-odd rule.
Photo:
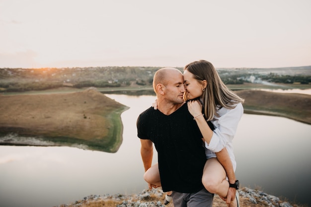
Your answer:
[[[0,0],[0,68],[311,65],[311,0]]]

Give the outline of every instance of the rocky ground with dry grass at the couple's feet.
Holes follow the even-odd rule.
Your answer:
[[[280,198],[266,194],[259,190],[242,188],[238,190],[240,207],[301,207],[284,202]],[[90,195],[72,204],[58,207],[165,207],[164,194],[161,189],[144,190],[136,195]],[[170,204],[168,207],[174,207]],[[213,207],[226,207],[226,203],[217,195]]]

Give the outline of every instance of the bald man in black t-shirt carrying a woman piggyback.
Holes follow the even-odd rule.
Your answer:
[[[137,120],[141,155],[147,171],[152,165],[153,144],[163,192],[172,191],[174,207],[212,207],[214,194],[201,179],[206,162],[202,134],[184,104],[183,75],[176,68],[161,68],[155,76],[157,110],[153,107]]]

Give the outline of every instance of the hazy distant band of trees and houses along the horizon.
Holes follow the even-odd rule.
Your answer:
[[[0,91],[46,90],[59,87],[151,86],[160,67],[0,68]],[[177,68],[183,70],[183,68]],[[217,68],[225,84],[310,84],[311,66],[286,68]]]

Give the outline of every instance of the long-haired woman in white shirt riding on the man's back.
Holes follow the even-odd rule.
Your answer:
[[[232,141],[243,114],[244,100],[223,83],[215,67],[206,60],[187,64],[183,75],[187,92],[184,99],[190,100],[187,103],[188,109],[201,130],[208,158],[204,166],[202,183],[210,193],[218,194],[226,201],[227,196],[228,199],[232,198],[233,192],[235,193],[235,189],[230,187],[230,183],[233,184],[235,181],[236,168]],[[198,97],[200,100],[191,101]],[[202,107],[204,114],[202,114]],[[213,123],[215,130],[208,126],[207,121]],[[230,170],[230,166],[226,168],[219,161],[222,157],[228,157],[227,153],[232,161],[233,170]],[[144,175],[147,182],[159,180],[156,165],[154,166]],[[169,203],[169,194],[170,192],[165,196],[164,204]],[[227,201],[229,207],[238,206],[238,194],[235,197]]]

